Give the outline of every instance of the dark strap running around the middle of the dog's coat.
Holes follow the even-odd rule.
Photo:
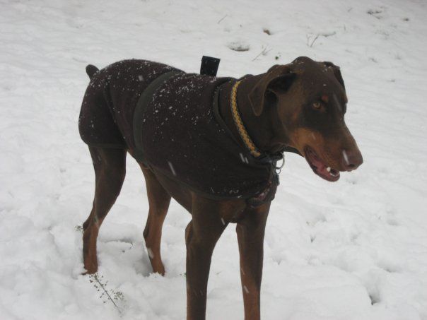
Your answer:
[[[163,83],[168,81],[173,76],[177,76],[178,74],[182,73],[182,71],[169,71],[163,73],[161,76],[156,78],[156,80],[150,83],[139,97],[138,103],[135,107],[133,121],[135,142],[134,158],[138,162],[143,162],[144,164],[146,164],[144,160],[144,148],[142,146],[142,120],[144,119],[144,109],[146,109],[146,105],[148,105],[148,102],[151,101],[151,99],[153,98],[153,94],[160,87],[160,85],[163,85]]]

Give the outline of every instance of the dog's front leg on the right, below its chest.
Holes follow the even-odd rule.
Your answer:
[[[262,279],[264,230],[270,203],[257,208],[247,208],[236,226],[240,253],[240,278],[242,280],[245,320],[257,320],[259,290]]]

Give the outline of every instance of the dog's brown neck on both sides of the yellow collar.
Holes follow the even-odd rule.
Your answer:
[[[237,104],[240,117],[247,133],[257,148],[264,153],[277,153],[286,146],[288,139],[284,135],[276,109],[264,109],[261,115],[256,116],[250,105],[248,93],[259,81],[260,76],[245,76],[242,79],[237,93]],[[219,93],[219,111],[224,122],[235,138],[243,145],[239,131],[231,113],[231,90],[235,81],[230,81],[221,86]]]

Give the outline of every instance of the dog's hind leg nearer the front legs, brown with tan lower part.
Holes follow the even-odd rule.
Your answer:
[[[146,179],[147,196],[150,208],[144,229],[144,239],[150,257],[153,272],[165,275],[165,266],[160,255],[160,240],[162,238],[162,227],[168,213],[170,194],[158,182],[156,176],[148,168],[141,165]]]

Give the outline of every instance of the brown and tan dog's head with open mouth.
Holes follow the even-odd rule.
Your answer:
[[[249,93],[255,115],[275,109],[277,138],[296,148],[312,170],[334,182],[340,171],[355,170],[363,158],[344,122],[346,89],[339,67],[299,57],[276,65]]]

